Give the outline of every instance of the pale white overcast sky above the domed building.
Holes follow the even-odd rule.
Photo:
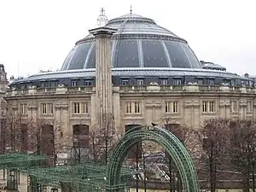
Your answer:
[[[0,63],[9,76],[61,68],[102,7],[113,19],[130,5],[185,38],[199,60],[256,75],[255,0],[0,0]]]

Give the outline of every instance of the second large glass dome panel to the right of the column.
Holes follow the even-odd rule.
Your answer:
[[[169,67],[160,41],[143,41],[144,67]]]

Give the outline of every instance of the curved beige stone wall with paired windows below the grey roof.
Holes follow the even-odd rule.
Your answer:
[[[113,121],[115,129],[124,133],[125,125],[161,124],[165,116],[170,116],[172,123],[194,128],[214,117],[255,119],[255,92],[254,88],[195,84],[113,86]],[[89,125],[91,130],[96,124],[95,87],[9,90],[5,99],[8,113],[58,122],[63,135],[72,135],[73,125]]]

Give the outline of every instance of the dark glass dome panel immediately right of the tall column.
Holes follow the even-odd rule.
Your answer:
[[[118,51],[113,55],[116,67],[139,67],[137,41],[119,41]]]

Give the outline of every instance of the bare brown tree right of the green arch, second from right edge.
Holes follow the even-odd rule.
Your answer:
[[[217,171],[227,166],[224,162],[230,146],[229,127],[229,119],[207,119],[201,127],[202,157],[209,174],[211,192],[216,190]]]

